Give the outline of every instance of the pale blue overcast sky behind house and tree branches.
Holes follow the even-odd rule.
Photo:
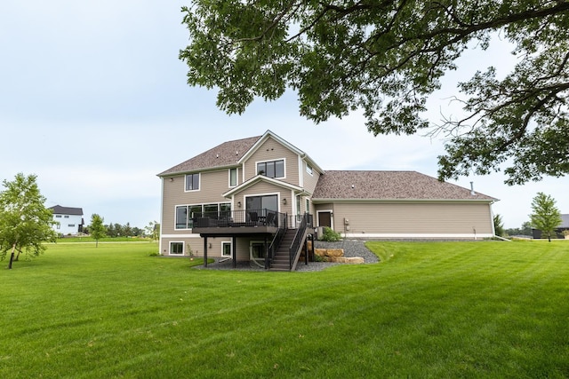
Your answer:
[[[215,107],[215,92],[190,88],[178,59],[188,43],[184,2],[3,0],[0,3],[0,180],[36,174],[47,206],[84,210],[105,224],[144,227],[160,217],[156,174],[237,138],[272,130],[324,170],[416,170],[437,176],[444,141],[373,137],[361,114],[314,125],[294,93],[256,101],[243,115]],[[455,84],[489,64],[515,62],[505,43],[471,51],[429,101],[428,117],[453,114]],[[505,72],[505,71],[504,71]],[[537,192],[569,213],[567,178],[506,186],[503,176],[453,182],[500,199],[506,227],[529,219]],[[565,192],[564,192],[565,190]]]

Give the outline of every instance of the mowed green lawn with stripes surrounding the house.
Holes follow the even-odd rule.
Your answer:
[[[380,264],[229,272],[50,245],[0,270],[0,377],[569,377],[569,243],[369,246]]]

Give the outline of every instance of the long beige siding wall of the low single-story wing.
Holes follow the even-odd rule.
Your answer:
[[[490,205],[480,202],[336,202],[333,225],[349,234],[493,233]]]

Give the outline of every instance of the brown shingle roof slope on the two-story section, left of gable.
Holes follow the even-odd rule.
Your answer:
[[[235,165],[259,138],[260,136],[224,142],[188,159],[186,162],[181,162],[171,169],[159,173],[158,177]]]

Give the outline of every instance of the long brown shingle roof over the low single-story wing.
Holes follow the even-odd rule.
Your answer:
[[[476,189],[475,189],[476,190]],[[497,199],[470,189],[440,182],[416,171],[325,171],[313,200],[485,200]]]

